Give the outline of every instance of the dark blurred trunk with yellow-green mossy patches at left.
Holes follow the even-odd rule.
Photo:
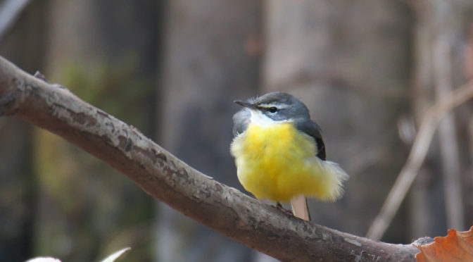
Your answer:
[[[151,0],[51,1],[46,77],[149,135],[159,8]],[[37,130],[35,143],[37,254],[97,261],[130,246],[127,259],[150,261],[151,198],[55,135]]]

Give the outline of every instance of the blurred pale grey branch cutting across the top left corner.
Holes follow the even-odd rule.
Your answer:
[[[31,0],[5,0],[0,5],[0,41],[4,39],[8,30],[30,2]]]

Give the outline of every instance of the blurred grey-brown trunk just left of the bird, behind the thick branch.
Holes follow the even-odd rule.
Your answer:
[[[190,166],[241,189],[229,154],[234,99],[255,94],[259,1],[169,1],[159,143]],[[247,261],[251,249],[160,204],[158,261]]]

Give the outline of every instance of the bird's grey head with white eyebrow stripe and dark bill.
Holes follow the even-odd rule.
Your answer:
[[[241,113],[241,116],[246,115],[247,118],[266,116],[273,121],[310,118],[307,106],[296,97],[284,92],[271,92],[246,101],[235,101],[235,103],[251,111],[251,114]]]

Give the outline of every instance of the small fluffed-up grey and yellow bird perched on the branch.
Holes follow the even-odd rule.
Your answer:
[[[348,174],[327,161],[319,125],[299,99],[270,92],[245,101],[233,116],[230,153],[241,185],[257,199],[291,202],[294,216],[310,220],[307,197],[335,201]]]

